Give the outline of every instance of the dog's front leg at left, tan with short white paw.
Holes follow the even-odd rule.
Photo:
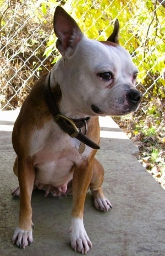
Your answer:
[[[25,248],[32,243],[32,209],[31,194],[34,187],[35,170],[31,157],[19,159],[18,180],[20,186],[20,212],[19,224],[15,230],[12,241],[20,248]]]

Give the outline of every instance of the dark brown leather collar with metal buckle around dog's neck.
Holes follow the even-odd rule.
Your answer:
[[[90,146],[90,148],[92,149],[100,149],[99,145],[87,138],[86,135],[83,134],[80,130],[81,128],[86,127],[86,122],[89,121],[90,117],[82,119],[71,119],[61,114],[53,99],[50,86],[50,77],[51,72],[47,75],[45,79],[45,88],[43,94],[46,104],[54,117],[54,121],[59,125],[59,127],[61,127],[61,129],[65,133],[68,133],[70,137],[80,140],[87,146]]]

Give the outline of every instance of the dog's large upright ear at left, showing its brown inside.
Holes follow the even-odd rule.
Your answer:
[[[72,55],[77,43],[83,37],[76,21],[65,12],[65,10],[58,6],[56,7],[53,20],[54,32],[58,37],[56,47],[62,56],[67,53]]]

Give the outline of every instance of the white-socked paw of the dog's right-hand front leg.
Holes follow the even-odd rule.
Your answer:
[[[92,243],[85,231],[83,219],[72,217],[70,232],[72,248],[75,251],[78,250],[78,252],[86,254],[92,248]]]

